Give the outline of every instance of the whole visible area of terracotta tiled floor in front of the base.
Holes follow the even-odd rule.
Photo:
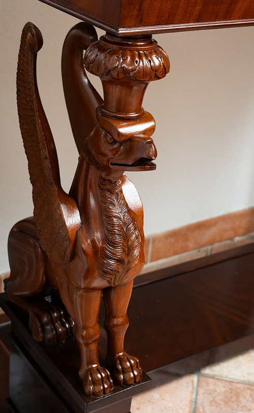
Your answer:
[[[132,413],[253,413],[254,350],[180,378],[157,372],[153,382]]]

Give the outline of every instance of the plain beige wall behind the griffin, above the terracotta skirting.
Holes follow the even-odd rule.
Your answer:
[[[66,191],[77,163],[60,54],[66,33],[78,20],[38,0],[0,0],[0,273],[8,271],[11,226],[33,211],[15,96],[20,34],[28,20],[44,36],[39,88]],[[146,234],[254,205],[254,27],[155,38],[171,60],[171,73],[149,85],[144,101],[156,120],[157,170],[129,174],[144,203]]]

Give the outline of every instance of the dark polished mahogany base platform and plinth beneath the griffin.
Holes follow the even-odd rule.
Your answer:
[[[253,348],[253,263],[250,244],[140,276],[128,311],[126,351],[137,355],[152,376],[164,368],[175,374],[193,372]],[[101,399],[86,398],[77,380],[75,339],[39,345],[27,330],[26,317],[5,294],[1,306],[12,320],[10,411],[129,412],[131,398],[149,388],[144,374],[140,385],[116,387]],[[103,313],[102,308],[101,325]],[[103,328],[101,336],[103,362]]]

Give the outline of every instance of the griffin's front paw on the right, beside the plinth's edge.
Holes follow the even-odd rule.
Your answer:
[[[136,357],[122,352],[116,357],[108,357],[107,366],[114,382],[119,385],[134,385],[140,381],[142,369]]]

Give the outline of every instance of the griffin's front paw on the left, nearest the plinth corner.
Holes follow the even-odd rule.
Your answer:
[[[85,372],[83,388],[87,396],[103,396],[113,389],[113,380],[107,369],[91,366]]]

